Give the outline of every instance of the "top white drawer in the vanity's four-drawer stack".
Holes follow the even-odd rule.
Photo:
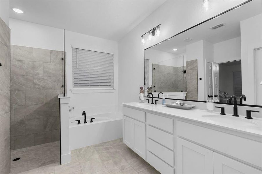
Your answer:
[[[147,123],[167,132],[174,132],[174,120],[167,117],[147,113]]]

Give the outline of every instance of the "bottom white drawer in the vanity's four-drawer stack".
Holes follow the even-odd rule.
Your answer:
[[[162,174],[174,173],[174,168],[167,165],[149,151],[147,151],[147,162]]]

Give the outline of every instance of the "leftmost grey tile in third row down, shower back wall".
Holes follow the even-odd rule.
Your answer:
[[[34,79],[32,76],[11,75],[10,90],[33,90]]]

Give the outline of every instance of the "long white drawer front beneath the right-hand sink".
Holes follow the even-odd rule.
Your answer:
[[[177,135],[262,168],[262,143],[177,121]]]

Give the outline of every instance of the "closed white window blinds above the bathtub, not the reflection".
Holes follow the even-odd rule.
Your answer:
[[[113,54],[72,48],[73,88],[114,88]]]

